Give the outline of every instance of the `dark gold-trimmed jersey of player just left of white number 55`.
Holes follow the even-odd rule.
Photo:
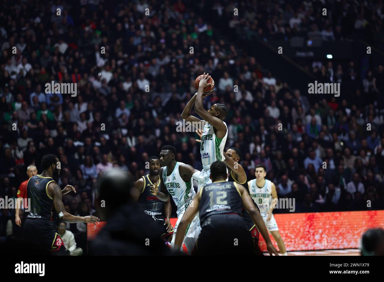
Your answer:
[[[149,179],[149,174],[141,177],[144,178],[144,186],[139,196],[139,200],[137,201],[138,207],[144,209],[144,213],[150,216],[159,216],[164,219],[165,202],[159,200],[155,195],[151,194],[150,186],[152,185],[152,181]],[[158,185],[160,185],[160,176]]]

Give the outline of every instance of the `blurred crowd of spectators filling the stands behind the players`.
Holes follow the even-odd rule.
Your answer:
[[[204,2],[5,2],[0,11],[0,196],[15,198],[27,179],[26,167],[34,164],[41,173],[47,153],[60,159],[60,187],[76,187],[78,193],[63,201],[66,211],[78,215],[94,213],[98,175],[120,167],[138,179],[163,145],[175,146],[176,160],[201,170],[197,134],[176,128],[196,92],[195,78],[208,72],[216,86],[204,99],[205,109],[216,102],[227,105],[225,149],[241,150],[248,180],[263,163],[278,196],[295,198],[296,212],[384,209],[384,104],[375,103],[384,94],[382,65],[361,79],[353,61],[340,67],[315,62],[313,72],[324,82],[354,79],[358,87],[348,97],[324,95],[310,104],[309,94],[263,71],[257,58],[238,53],[213,29],[217,16],[246,39],[319,32],[341,40],[343,32],[366,25],[366,16],[381,31],[381,2],[335,2],[332,21],[315,13],[321,1],[302,1],[299,7],[240,2],[248,8],[257,4],[240,20],[228,18],[234,3],[223,3],[213,3],[208,22],[197,13]],[[47,92],[51,81],[77,83],[77,96]],[[0,210],[0,236],[12,216]],[[67,228],[84,248],[85,224]]]

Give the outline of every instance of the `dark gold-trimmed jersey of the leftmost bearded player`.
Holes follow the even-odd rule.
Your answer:
[[[31,199],[31,210],[27,218],[56,220],[57,214],[53,208],[53,198],[48,194],[48,185],[51,182],[55,182],[55,180],[40,175],[32,176],[29,179],[26,190],[28,198]]]

